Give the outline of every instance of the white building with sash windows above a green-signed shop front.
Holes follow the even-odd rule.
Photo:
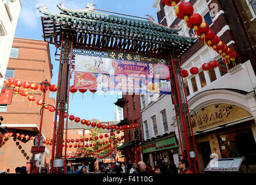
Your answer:
[[[140,94],[143,161],[154,168],[163,161],[178,167],[179,142],[171,95]]]

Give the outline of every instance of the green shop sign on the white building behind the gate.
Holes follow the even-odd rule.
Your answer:
[[[157,142],[149,143],[149,144],[142,146],[143,153],[167,150],[167,149],[172,149],[175,147],[178,147],[177,143],[176,143],[175,136],[172,136],[171,138],[167,138],[167,139],[163,139],[163,140],[158,140]]]

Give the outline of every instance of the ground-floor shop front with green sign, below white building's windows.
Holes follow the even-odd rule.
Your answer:
[[[174,161],[178,166],[179,148],[175,135],[152,139],[143,143],[142,150],[143,161],[149,162],[153,168],[157,164],[163,165],[163,162],[168,164],[171,161]]]

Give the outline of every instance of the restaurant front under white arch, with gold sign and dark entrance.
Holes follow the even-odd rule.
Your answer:
[[[256,173],[255,120],[248,110],[213,103],[201,108],[191,121],[200,172],[211,158],[244,157],[239,172]]]

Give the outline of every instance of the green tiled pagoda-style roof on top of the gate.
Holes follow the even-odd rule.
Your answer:
[[[114,16],[93,10],[71,10],[57,5],[60,14],[44,14],[42,26],[47,42],[60,46],[60,35],[69,32],[75,36],[75,45],[102,47],[147,54],[170,54],[170,50],[182,55],[193,45],[195,38],[178,35],[180,29],[171,29],[152,23]]]

